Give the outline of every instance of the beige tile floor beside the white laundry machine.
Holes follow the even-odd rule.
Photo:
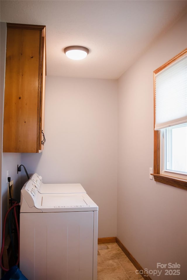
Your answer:
[[[143,280],[117,243],[98,244],[97,280]]]

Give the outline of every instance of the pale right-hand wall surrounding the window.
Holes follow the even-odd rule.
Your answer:
[[[117,237],[143,268],[181,264],[180,276],[162,272],[171,280],[187,278],[187,192],[149,179],[153,71],[186,48],[186,26],[185,16],[118,80]]]

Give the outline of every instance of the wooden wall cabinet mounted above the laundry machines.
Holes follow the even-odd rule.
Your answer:
[[[3,152],[43,149],[45,76],[45,26],[7,23]]]

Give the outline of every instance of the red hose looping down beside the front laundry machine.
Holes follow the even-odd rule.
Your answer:
[[[13,206],[11,206],[8,211],[6,212],[6,215],[5,215],[5,218],[4,218],[4,223],[3,223],[3,236],[2,236],[2,246],[1,246],[1,260],[2,260],[2,255],[3,255],[3,250],[4,250],[4,245],[5,245],[5,225],[6,225],[6,218],[8,216],[8,213],[11,211],[11,209],[13,209],[14,207],[20,205],[19,203],[15,203]],[[19,234],[19,226],[18,226],[18,219],[17,219],[17,215],[16,215],[16,211],[15,211],[15,208],[14,208],[14,216],[15,216],[15,223],[16,223],[16,228],[17,228],[17,232],[18,232],[18,260],[17,260],[17,263],[16,265],[18,265],[18,262],[19,262],[19,258],[20,258],[20,255],[19,255],[19,247],[20,247],[20,234]],[[8,271],[8,269],[6,269],[5,267],[3,267],[2,265],[2,261],[1,261],[1,268],[4,270],[4,271]]]

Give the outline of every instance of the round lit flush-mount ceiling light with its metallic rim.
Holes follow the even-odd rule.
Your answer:
[[[82,46],[69,46],[64,49],[67,57],[73,60],[81,60],[89,54],[89,49]]]

